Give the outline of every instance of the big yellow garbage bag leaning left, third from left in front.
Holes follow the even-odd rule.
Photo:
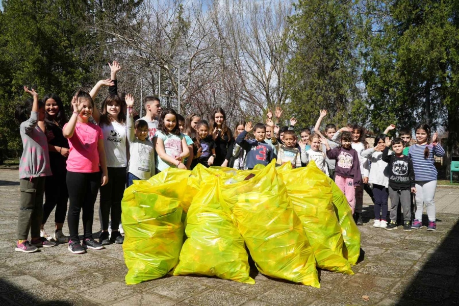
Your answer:
[[[222,186],[239,232],[265,275],[320,287],[316,260],[300,219],[271,162],[248,181]]]

